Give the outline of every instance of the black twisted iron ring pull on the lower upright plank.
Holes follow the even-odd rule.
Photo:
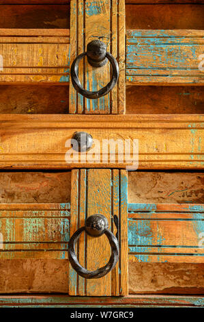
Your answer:
[[[82,267],[76,257],[75,245],[78,241],[78,238],[84,231],[87,232],[89,236],[93,237],[100,237],[102,234],[105,234],[111,245],[111,258],[104,267],[100,267],[100,269],[96,269],[96,271],[88,271]],[[85,226],[74,232],[69,242],[68,257],[70,264],[76,273],[87,279],[103,277],[115,267],[119,259],[119,245],[117,238],[110,230],[108,230],[108,221],[105,216],[102,214],[89,216],[85,222]]]

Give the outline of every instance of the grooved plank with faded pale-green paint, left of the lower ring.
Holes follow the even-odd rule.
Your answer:
[[[68,203],[1,203],[0,258],[68,258],[69,209]]]

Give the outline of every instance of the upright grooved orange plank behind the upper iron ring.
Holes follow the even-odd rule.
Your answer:
[[[111,8],[111,9],[110,9]],[[83,32],[82,32],[83,30]],[[100,39],[119,62],[119,81],[112,92],[100,99],[83,99],[70,86],[70,112],[81,114],[121,114],[125,110],[125,1],[105,0],[71,2],[70,63],[76,55],[86,51],[87,43]],[[81,84],[87,90],[98,90],[110,80],[108,64],[93,69],[85,59],[78,71]]]

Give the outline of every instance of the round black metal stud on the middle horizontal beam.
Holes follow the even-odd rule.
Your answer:
[[[93,145],[93,138],[87,132],[75,132],[71,140],[72,149],[79,152],[86,152]]]

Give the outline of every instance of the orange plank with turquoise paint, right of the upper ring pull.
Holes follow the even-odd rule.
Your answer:
[[[128,84],[204,84],[199,70],[203,31],[128,30],[126,82]]]

